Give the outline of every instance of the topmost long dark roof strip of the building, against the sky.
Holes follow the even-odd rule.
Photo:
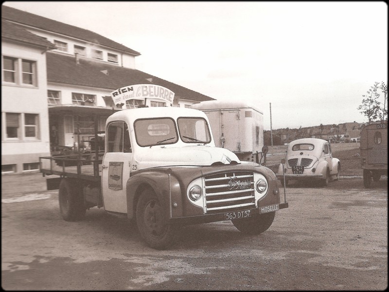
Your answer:
[[[1,19],[6,19],[68,37],[75,37],[78,39],[90,41],[95,44],[100,44],[112,49],[117,49],[129,53],[131,55],[141,55],[141,53],[137,51],[134,51],[122,44],[119,44],[109,38],[103,37],[89,30],[59,22],[50,18],[41,17],[5,5],[1,5]]]

